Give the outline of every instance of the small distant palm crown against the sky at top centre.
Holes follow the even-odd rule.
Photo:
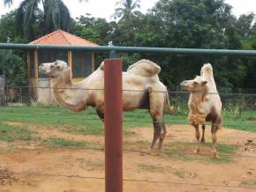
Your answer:
[[[120,6],[115,10],[114,16],[117,16],[117,18],[125,19],[141,13],[136,11],[137,8],[140,8],[140,0],[121,0],[116,5]]]

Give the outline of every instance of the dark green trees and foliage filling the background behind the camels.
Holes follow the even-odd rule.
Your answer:
[[[11,5],[11,2],[4,0],[3,3]],[[38,6],[40,3],[44,5],[43,10]],[[151,10],[142,14],[139,11],[139,0],[121,0],[116,12],[113,12],[113,17],[117,19],[108,22],[105,18],[94,18],[88,14],[70,18],[68,8],[60,0],[24,1],[18,10],[1,16],[0,42],[26,43],[62,28],[100,45],[112,42],[116,46],[256,48],[254,13],[237,18],[231,11],[230,4],[225,4],[223,0],[159,0]],[[5,55],[3,50],[1,53]],[[25,62],[21,64],[19,59],[15,59],[1,62],[2,65],[19,63],[23,67],[22,71],[26,71],[24,53],[9,52],[7,56],[10,54],[19,55]],[[162,67],[162,81],[170,88],[199,74],[201,64],[207,62],[214,65],[217,85],[225,87],[225,92],[234,91],[234,87],[255,87],[256,61],[252,57],[147,54],[121,56],[124,59],[124,69],[140,58],[158,63]],[[8,73],[8,69],[9,67],[2,68],[2,73]],[[26,76],[23,78],[26,81]],[[22,81],[18,77],[11,82],[17,85]]]

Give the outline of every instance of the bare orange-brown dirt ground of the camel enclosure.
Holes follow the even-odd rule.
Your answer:
[[[30,126],[29,129],[34,130],[35,135],[41,138],[62,137],[73,141],[98,144],[103,144],[104,142],[103,137],[64,133],[56,128]],[[134,134],[124,137],[124,142],[137,144],[151,141],[152,128],[131,129]],[[194,130],[191,126],[171,125],[168,127],[168,131],[164,144],[171,144],[174,141],[195,142]],[[211,141],[208,128],[206,140],[208,142]],[[179,159],[145,154],[139,151],[124,151],[124,179],[172,182],[124,181],[124,191],[255,192],[256,147],[254,143],[256,143],[256,134],[223,128],[218,132],[218,142],[236,144],[236,155],[246,157],[237,156],[230,162],[214,163],[209,160],[211,159],[209,155],[193,155],[193,159]],[[104,180],[102,179],[104,177],[103,151],[54,148],[38,145],[36,142],[30,142],[29,145],[26,145],[26,142],[11,144],[19,145],[19,147],[11,147],[10,144],[0,145],[1,192],[104,191]],[[195,144],[187,151],[192,152],[194,146]],[[210,147],[208,148],[207,151],[210,151]],[[135,149],[134,146],[132,146],[132,149]],[[79,175],[80,177],[65,177],[63,175]],[[97,179],[89,179],[87,177],[95,177]]]

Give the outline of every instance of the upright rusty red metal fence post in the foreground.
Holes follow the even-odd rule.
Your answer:
[[[122,60],[104,61],[105,191],[123,191]]]

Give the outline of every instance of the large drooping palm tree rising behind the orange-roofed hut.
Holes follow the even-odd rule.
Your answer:
[[[79,0],[80,3],[83,1],[87,0]],[[12,3],[13,0],[4,0],[5,6],[11,6]],[[40,4],[43,10],[39,8]],[[36,31],[70,31],[71,15],[62,0],[23,0],[17,10],[16,26],[20,33],[31,40],[34,39]]]

